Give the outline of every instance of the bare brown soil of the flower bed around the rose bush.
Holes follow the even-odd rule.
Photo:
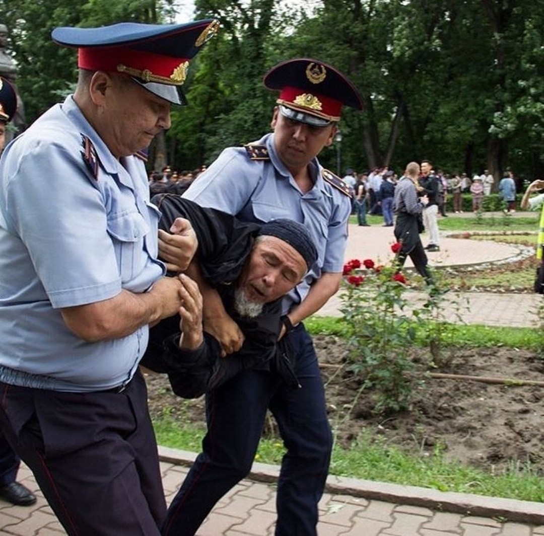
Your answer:
[[[344,341],[319,335],[314,344],[324,365],[330,420],[344,444],[367,430],[412,453],[440,446],[446,458],[479,468],[502,470],[529,461],[544,472],[544,387],[427,379],[413,393],[409,412],[376,417],[372,393],[353,403],[360,382],[345,366]],[[425,362],[421,357],[414,356]],[[451,352],[447,367],[434,372],[543,381],[544,362],[530,351],[464,348]],[[180,422],[203,422],[203,398],[182,400],[164,376],[146,378],[153,416],[166,411]]]

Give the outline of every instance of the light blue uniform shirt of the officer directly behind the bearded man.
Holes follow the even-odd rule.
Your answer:
[[[342,272],[348,237],[349,196],[323,178],[317,159],[310,163],[313,188],[303,194],[276,153],[274,134],[253,145],[268,149],[269,159],[251,160],[244,147],[225,149],[183,194],[202,207],[212,207],[244,221],[289,218],[304,223],[318,260],[304,281],[283,300],[283,313],[300,303],[322,272]]]

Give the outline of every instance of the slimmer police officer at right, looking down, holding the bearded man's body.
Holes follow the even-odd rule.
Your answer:
[[[293,346],[301,387],[290,388],[274,370],[249,369],[208,393],[203,451],[169,508],[168,536],[195,534],[215,502],[247,475],[268,408],[288,449],[277,488],[276,535],[316,534],[332,437],[316,352],[302,320],[338,290],[351,212],[347,187],[323,169],[317,155],[332,144],[342,106],[362,109],[363,103],[344,74],[314,59],[276,65],[264,85],[279,91],[274,132],[246,147],[225,149],[184,197],[244,221],[289,218],[310,231],[318,260],[282,303],[281,335]],[[243,335],[215,298],[204,296],[206,331],[226,352],[238,350]]]

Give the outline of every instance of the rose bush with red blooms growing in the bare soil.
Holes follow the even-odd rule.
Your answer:
[[[350,260],[344,265],[341,312],[349,326],[349,370],[361,378],[361,390],[375,394],[375,411],[391,413],[407,409],[414,387],[409,348],[417,327],[429,319],[429,304],[409,311],[410,296],[404,292],[406,276],[395,253],[387,264],[373,259]]]

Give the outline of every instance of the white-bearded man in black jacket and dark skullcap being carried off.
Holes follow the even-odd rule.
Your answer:
[[[203,331],[200,291],[186,278],[180,315],[151,328],[142,364],[168,373],[172,390],[184,398],[201,396],[248,368],[273,370],[298,387],[288,360],[288,338],[278,339],[281,298],[317,259],[306,227],[287,219],[244,223],[175,195],[159,195],[152,202],[162,211],[159,228],[168,231],[177,217],[191,223],[199,247],[188,273],[198,267],[201,277],[218,290],[244,342],[238,352],[220,358],[219,342]]]

